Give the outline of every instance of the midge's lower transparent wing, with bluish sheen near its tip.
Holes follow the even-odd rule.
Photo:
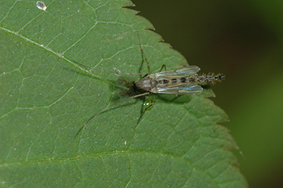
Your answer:
[[[195,95],[202,93],[203,88],[195,83],[184,83],[178,86],[156,87],[152,93],[165,93],[172,95]]]

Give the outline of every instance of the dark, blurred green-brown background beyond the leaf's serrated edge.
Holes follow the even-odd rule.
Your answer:
[[[190,65],[226,75],[212,100],[241,172],[251,188],[283,187],[283,1],[132,1]]]

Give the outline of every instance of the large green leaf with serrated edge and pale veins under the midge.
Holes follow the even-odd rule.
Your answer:
[[[247,187],[225,112],[202,95],[121,99],[117,75],[86,66],[157,72],[184,57],[161,42],[130,1],[0,3],[0,183],[2,187]],[[137,81],[140,76],[131,76]],[[128,79],[128,78],[127,78]]]

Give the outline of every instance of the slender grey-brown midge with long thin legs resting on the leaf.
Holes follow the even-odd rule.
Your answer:
[[[124,85],[127,85],[127,88],[124,88],[123,93],[132,94],[131,97],[122,100],[120,102],[116,102],[113,105],[109,105],[105,107],[103,110],[100,110],[94,117],[92,117],[86,124],[81,127],[81,129],[86,129],[88,124],[90,124],[93,119],[98,117],[99,114],[107,110],[109,107],[117,105],[121,102],[125,102],[126,100],[132,98],[139,98],[144,95],[150,95],[151,93],[164,93],[164,94],[171,94],[171,95],[195,95],[202,93],[202,85],[207,84],[208,82],[215,83],[216,81],[224,80],[225,76],[223,74],[203,74],[202,76],[198,76],[197,72],[200,71],[198,66],[183,66],[178,69],[170,70],[170,71],[161,71],[163,68],[166,70],[166,66],[163,64],[161,70],[158,73],[151,74],[150,73],[150,66],[149,61],[147,61],[146,56],[144,54],[144,49],[141,45],[141,38],[139,36],[139,45],[141,47],[141,52],[146,60],[147,69],[149,71],[148,74],[137,74],[137,75],[144,75],[143,78],[139,79],[139,81],[134,81],[129,83],[123,79],[119,79],[122,81]],[[79,64],[76,62],[76,64]],[[85,66],[83,64],[79,64],[84,66],[88,69],[95,70],[95,71],[103,71],[99,69],[93,69],[89,66]],[[103,71],[108,73],[115,73],[115,74],[130,74],[135,75],[133,73],[121,73],[119,71]],[[134,93],[134,95],[133,95]],[[146,110],[149,110],[150,107],[154,105],[154,101],[151,96],[151,104],[144,109],[139,120],[137,121],[136,127],[134,127],[134,131],[137,129],[137,125],[139,124],[141,117],[143,117]],[[79,131],[81,131],[81,129]],[[78,132],[79,134],[79,132]]]

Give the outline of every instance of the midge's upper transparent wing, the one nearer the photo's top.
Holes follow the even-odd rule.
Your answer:
[[[197,74],[198,71],[200,71],[200,68],[198,66],[192,65],[192,66],[184,66],[170,71],[162,71],[156,74],[151,74],[150,76],[152,76],[152,78],[155,79],[159,77],[171,77],[171,76],[187,77]]]

